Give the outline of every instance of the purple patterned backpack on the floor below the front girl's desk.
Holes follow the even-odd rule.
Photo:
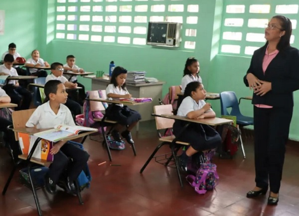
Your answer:
[[[212,191],[219,180],[216,167],[212,163],[200,164],[196,176],[188,175],[186,180],[198,194],[205,194],[207,191]]]

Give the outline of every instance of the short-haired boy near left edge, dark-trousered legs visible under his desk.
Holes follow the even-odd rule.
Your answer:
[[[16,70],[12,67],[13,56],[6,54],[3,59],[3,65],[0,65],[0,75],[18,76]],[[10,97],[11,103],[17,104],[14,110],[28,109],[32,100],[31,93],[19,86],[16,80],[9,80],[6,85],[3,86],[6,94]]]

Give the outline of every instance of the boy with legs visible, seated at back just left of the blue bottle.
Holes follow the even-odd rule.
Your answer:
[[[74,73],[84,73],[83,68],[79,68],[76,63],[76,57],[73,55],[68,55],[66,57],[66,64],[63,65],[64,71],[67,72],[74,72]],[[78,87],[81,87],[82,89],[79,89],[79,100],[78,103],[83,106],[84,100],[86,98],[86,93],[85,93],[85,87],[81,83],[78,82],[77,76],[72,76],[68,74],[64,74],[64,77],[66,77],[70,82],[72,83],[77,83]],[[72,76],[72,77],[71,77]]]

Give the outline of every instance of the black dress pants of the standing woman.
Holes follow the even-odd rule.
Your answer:
[[[291,108],[257,108],[254,106],[254,147],[256,186],[279,193],[286,143],[289,138]]]

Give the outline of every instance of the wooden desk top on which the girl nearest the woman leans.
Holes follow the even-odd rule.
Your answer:
[[[221,124],[227,124],[233,122],[233,120],[226,119],[226,118],[203,118],[203,119],[190,119],[186,118],[183,116],[178,116],[178,115],[171,115],[171,114],[161,114],[161,115],[156,115],[152,114],[153,116],[157,117],[164,117],[164,118],[171,118],[171,119],[177,119],[177,120],[183,120],[183,121],[190,121],[190,122],[195,122],[195,123],[200,123],[200,124],[207,124],[211,126],[215,125],[221,125]]]

